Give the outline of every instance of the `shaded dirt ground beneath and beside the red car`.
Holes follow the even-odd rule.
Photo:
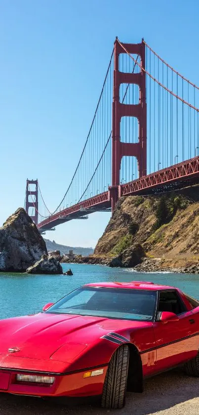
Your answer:
[[[40,398],[0,394],[0,415],[199,415],[199,378],[188,377],[181,369],[147,379],[144,393],[126,397],[121,410],[96,405],[66,407]]]

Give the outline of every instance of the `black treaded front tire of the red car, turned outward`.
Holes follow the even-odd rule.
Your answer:
[[[102,408],[123,408],[128,375],[129,348],[120,346],[112,356],[102,392]]]

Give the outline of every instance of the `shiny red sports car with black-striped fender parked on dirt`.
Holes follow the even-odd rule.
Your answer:
[[[169,286],[86,284],[42,313],[0,321],[0,392],[121,408],[126,390],[181,364],[199,376],[199,301]]]

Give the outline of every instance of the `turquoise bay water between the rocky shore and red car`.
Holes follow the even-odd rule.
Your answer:
[[[135,273],[102,265],[62,264],[72,277],[0,273],[0,319],[39,312],[80,285],[98,281],[144,280],[170,284],[199,299],[199,276],[192,274]]]

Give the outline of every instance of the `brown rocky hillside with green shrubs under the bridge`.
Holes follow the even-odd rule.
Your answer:
[[[115,257],[141,244],[148,258],[199,261],[199,185],[150,196],[122,197],[94,255]]]

